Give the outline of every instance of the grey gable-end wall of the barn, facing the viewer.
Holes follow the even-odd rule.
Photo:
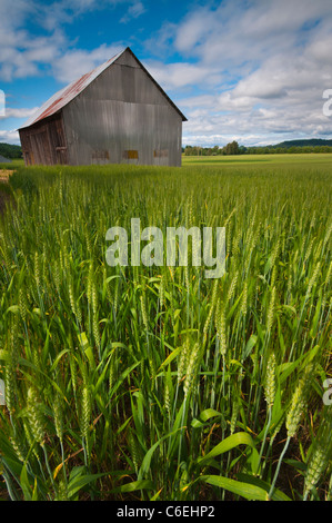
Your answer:
[[[181,166],[181,115],[124,52],[63,108],[71,165]]]

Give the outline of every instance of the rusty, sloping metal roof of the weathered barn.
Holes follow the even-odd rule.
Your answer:
[[[67,106],[71,100],[73,100],[78,95],[80,95],[99,75],[101,75],[108,67],[110,67],[114,61],[120,58],[123,52],[130,51],[131,55],[138,60],[130,48],[125,48],[123,51],[119,52],[110,60],[105,61],[101,66],[98,66],[90,72],[87,72],[78,80],[74,80],[69,86],[64,87],[60,91],[56,92],[48,101],[46,101],[38,111],[32,115],[21,127],[20,129],[24,129],[26,127],[30,127],[37,124],[40,120],[43,120],[47,117],[54,115],[56,112],[60,111],[64,106]],[[174,107],[174,109],[180,114],[183,121],[187,121],[185,116],[180,111],[180,109],[173,103],[173,101],[168,97],[168,95],[162,90],[159,83],[154,80],[154,78],[149,73],[149,71],[142,66],[142,63],[138,60],[142,69],[147,72],[150,79],[157,85],[157,87],[161,90],[168,101]]]

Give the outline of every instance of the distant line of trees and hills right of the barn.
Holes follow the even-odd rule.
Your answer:
[[[286,144],[286,142],[285,142]],[[305,146],[239,146],[238,141],[232,141],[224,147],[199,147],[185,146],[182,148],[184,156],[232,156],[232,155],[284,155],[303,152],[332,152],[332,146],[305,145]]]

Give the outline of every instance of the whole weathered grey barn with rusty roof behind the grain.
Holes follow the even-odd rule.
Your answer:
[[[19,134],[26,165],[179,167],[183,121],[127,48],[57,92]]]

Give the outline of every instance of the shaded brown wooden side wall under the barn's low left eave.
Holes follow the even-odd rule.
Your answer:
[[[61,114],[19,130],[26,165],[68,164]]]

